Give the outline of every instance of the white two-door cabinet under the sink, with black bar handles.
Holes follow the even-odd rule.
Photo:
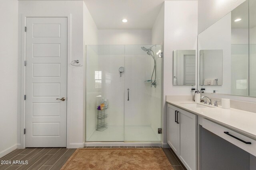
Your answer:
[[[168,144],[188,170],[196,170],[197,115],[168,104]]]

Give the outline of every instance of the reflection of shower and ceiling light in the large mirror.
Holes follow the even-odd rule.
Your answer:
[[[248,0],[231,12],[231,94],[249,95]]]

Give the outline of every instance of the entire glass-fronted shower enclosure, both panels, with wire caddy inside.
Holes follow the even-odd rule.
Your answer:
[[[161,51],[161,45],[87,45],[86,142],[161,141]]]

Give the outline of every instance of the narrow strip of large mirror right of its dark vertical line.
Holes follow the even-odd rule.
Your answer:
[[[256,96],[256,0],[249,0],[249,75],[250,96]]]

